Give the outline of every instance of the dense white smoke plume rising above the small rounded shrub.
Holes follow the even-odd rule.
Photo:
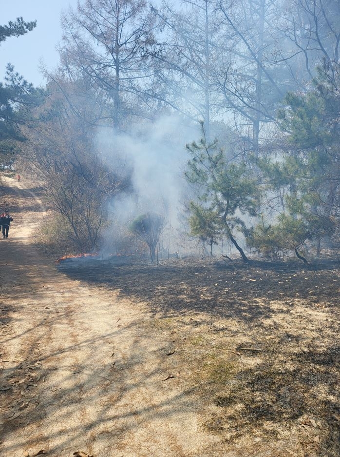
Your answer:
[[[199,135],[198,125],[186,125],[176,115],[155,122],[143,122],[129,132],[101,129],[98,151],[109,166],[124,164],[132,171],[133,195],[115,199],[112,211],[122,223],[148,211],[164,216],[172,227],[178,225],[179,201],[186,183],[185,145]]]

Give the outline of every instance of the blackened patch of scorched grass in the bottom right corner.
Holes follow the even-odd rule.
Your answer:
[[[237,382],[227,384],[214,398],[218,411],[208,419],[206,426],[233,440],[245,432],[254,436],[261,427],[266,429],[267,436],[277,438],[280,429],[275,424],[296,423],[301,430],[301,440],[305,440],[311,450],[313,447],[318,449],[316,443],[319,444],[322,434],[324,455],[338,456],[339,349],[339,346],[332,346],[324,352],[297,354],[292,360],[293,369],[284,363],[275,366],[264,360],[256,367],[242,371]]]

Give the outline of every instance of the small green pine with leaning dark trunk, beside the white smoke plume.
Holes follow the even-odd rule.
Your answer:
[[[187,144],[191,155],[186,179],[197,189],[197,201],[189,202],[191,234],[211,243],[227,237],[247,261],[234,232],[246,233],[242,216],[255,216],[257,181],[245,161],[228,160],[217,140],[208,142],[203,123],[198,143]]]

